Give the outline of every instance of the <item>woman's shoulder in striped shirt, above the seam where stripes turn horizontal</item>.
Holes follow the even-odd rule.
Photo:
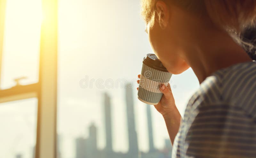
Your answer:
[[[192,95],[186,111],[225,104],[242,109],[256,120],[256,63],[239,63],[216,71]],[[193,108],[192,108],[193,107]]]

